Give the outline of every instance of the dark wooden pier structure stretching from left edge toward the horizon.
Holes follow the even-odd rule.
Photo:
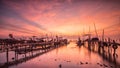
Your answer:
[[[51,40],[16,40],[16,39],[0,39],[0,52],[6,52],[6,62],[0,64],[0,68],[6,68],[12,65],[30,60],[34,57],[49,52],[55,48],[58,48],[64,44],[67,44],[67,39],[51,39]],[[15,52],[13,61],[9,61],[9,52]],[[38,52],[37,52],[38,51]],[[33,54],[37,52],[36,54]],[[31,53],[27,56],[26,54]],[[18,59],[18,55],[23,54],[23,58]]]

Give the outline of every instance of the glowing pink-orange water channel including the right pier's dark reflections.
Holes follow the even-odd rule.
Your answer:
[[[96,45],[92,49],[94,50],[88,50],[87,42],[84,46],[77,46],[75,42],[70,42],[68,45],[37,55],[25,63],[10,68],[119,68],[117,52],[116,54],[111,53],[112,51],[101,52],[102,48],[100,48],[101,53],[96,53],[94,52]],[[107,51],[106,47],[104,49]],[[33,55],[37,53],[39,51],[33,52]],[[29,53],[24,55],[27,56]]]

